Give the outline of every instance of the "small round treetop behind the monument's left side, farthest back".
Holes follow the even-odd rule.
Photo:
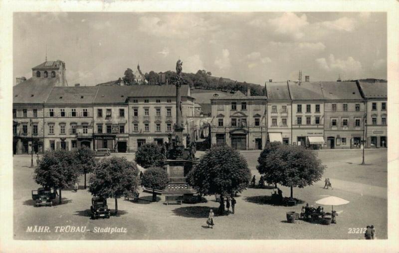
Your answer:
[[[159,166],[161,160],[161,150],[155,143],[141,145],[136,152],[135,161],[144,168]]]

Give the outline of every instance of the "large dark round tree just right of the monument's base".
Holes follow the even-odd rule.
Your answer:
[[[224,213],[223,194],[245,190],[250,179],[245,158],[226,145],[211,147],[187,177],[190,185],[199,188],[200,194],[220,194],[220,213]]]

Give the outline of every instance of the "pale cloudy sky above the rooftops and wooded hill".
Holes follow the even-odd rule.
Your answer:
[[[69,85],[116,80],[125,69],[210,71],[238,81],[387,78],[383,12],[14,13],[13,68],[31,77],[65,61]],[[304,77],[303,77],[304,79]]]

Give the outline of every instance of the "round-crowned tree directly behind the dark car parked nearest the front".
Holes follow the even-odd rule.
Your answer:
[[[127,192],[135,192],[139,186],[139,169],[126,157],[106,158],[98,162],[89,179],[89,192],[93,196],[115,199],[115,215],[118,199]]]

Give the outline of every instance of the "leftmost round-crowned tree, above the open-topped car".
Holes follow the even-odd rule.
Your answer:
[[[59,204],[62,204],[61,190],[77,181],[79,162],[74,151],[47,151],[34,170],[34,180],[44,188],[59,190]]]

